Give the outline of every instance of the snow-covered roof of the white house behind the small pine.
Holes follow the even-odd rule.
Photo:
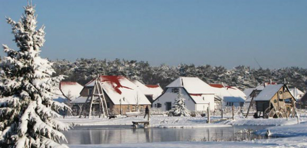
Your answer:
[[[179,77],[166,86],[170,87],[184,87],[189,94],[214,94],[211,86],[197,77]]]

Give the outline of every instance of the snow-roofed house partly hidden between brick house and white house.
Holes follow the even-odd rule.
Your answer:
[[[156,100],[158,96],[160,96],[163,92],[163,89],[160,85],[144,85],[138,80],[131,80],[138,88],[145,94],[150,103]]]

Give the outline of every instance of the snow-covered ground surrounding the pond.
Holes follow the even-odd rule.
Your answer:
[[[147,118],[146,118],[147,119]],[[143,117],[119,117],[115,119],[101,118],[77,118],[68,117],[60,119],[68,124],[79,126],[99,125],[131,125],[132,121],[146,120]],[[211,120],[219,119],[212,117]],[[243,142],[154,142],[154,143],[126,143],[126,144],[98,144],[98,145],[69,145],[73,148],[81,147],[307,147],[307,118],[301,117],[300,124],[296,118],[287,119],[254,119],[240,118],[235,120],[219,121],[212,124],[206,123],[205,117],[164,117],[153,116],[150,118],[150,126],[154,128],[202,128],[225,126],[272,126],[257,131],[256,134],[265,135],[270,130],[271,136],[282,138],[261,139]]]

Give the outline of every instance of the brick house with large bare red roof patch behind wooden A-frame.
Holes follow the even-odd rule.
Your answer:
[[[99,76],[99,80],[101,81],[101,87],[109,112],[119,114],[121,110],[121,113],[125,114],[126,112],[137,111],[138,108],[142,111],[146,106],[151,105],[138,86],[125,77]],[[85,84],[80,92],[80,96],[71,103],[85,104],[87,97],[92,94],[94,84],[95,79]],[[95,96],[95,100],[98,100],[97,96]],[[96,106],[98,105],[96,104]]]

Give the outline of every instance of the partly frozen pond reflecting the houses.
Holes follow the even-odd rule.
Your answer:
[[[164,141],[236,141],[259,139],[254,134],[238,134],[243,129],[261,130],[264,126],[235,126],[192,129],[133,129],[131,126],[80,126],[64,132],[69,144],[144,143]]]

